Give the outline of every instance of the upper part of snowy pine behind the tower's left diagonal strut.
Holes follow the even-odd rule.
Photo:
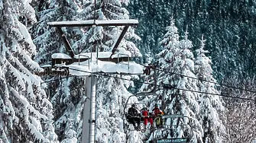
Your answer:
[[[55,52],[65,52],[63,41],[57,30],[47,26],[50,21],[73,21],[77,20],[79,5],[76,1],[39,1],[34,2],[37,9],[38,22],[34,25],[32,37],[37,46],[38,53],[35,60],[40,64],[50,64],[51,55]],[[82,32],[73,28],[63,27],[63,32],[72,45],[74,41],[81,38]]]

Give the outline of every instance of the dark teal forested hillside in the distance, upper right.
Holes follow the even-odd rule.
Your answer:
[[[255,76],[256,2],[254,0],[134,0],[128,5],[132,18],[138,18],[138,43],[141,52],[161,49],[160,37],[174,17],[181,35],[189,32],[193,47],[199,46],[204,35],[208,56],[218,81],[235,76]]]

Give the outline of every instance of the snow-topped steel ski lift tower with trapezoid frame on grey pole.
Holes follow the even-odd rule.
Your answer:
[[[110,21],[55,21],[49,22],[50,27],[56,27],[60,37],[64,41],[68,55],[56,53],[52,56],[51,67],[44,68],[43,73],[38,75],[76,75],[74,74],[74,66],[85,68],[86,72],[86,102],[83,107],[83,143],[94,143],[96,139],[96,74],[122,74],[122,75],[141,75],[143,67],[130,61],[131,54],[116,52],[119,43],[125,36],[128,27],[137,26],[137,20],[110,20]],[[89,52],[76,55],[68,42],[62,27],[123,27],[122,33],[116,40],[112,48],[112,52]],[[83,62],[83,64],[82,64]],[[77,64],[78,63],[78,64]],[[81,64],[80,64],[81,63]],[[86,65],[84,65],[86,63]],[[99,63],[101,64],[99,68]],[[136,70],[134,70],[136,68]],[[62,70],[64,69],[64,71]],[[79,68],[81,69],[81,68]],[[53,72],[54,71],[54,72]]]

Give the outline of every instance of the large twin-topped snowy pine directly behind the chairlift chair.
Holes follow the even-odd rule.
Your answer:
[[[165,124],[175,126],[172,126],[169,132],[155,132],[154,138],[190,136],[191,142],[203,142],[203,128],[198,120],[198,94],[191,92],[197,90],[196,81],[186,77],[196,78],[196,75],[193,74],[193,53],[190,51],[193,45],[187,39],[187,33],[185,33],[184,40],[180,41],[179,38],[177,27],[175,27],[172,18],[170,26],[167,27],[167,33],[164,35],[164,40],[160,42],[164,46],[164,50],[157,54],[158,66],[161,69],[157,74],[157,84],[164,86],[164,89],[160,88],[157,91],[159,97],[152,100],[151,110],[154,103],[157,102],[161,104],[161,109],[164,110],[165,115],[179,114],[189,118],[167,119]]]

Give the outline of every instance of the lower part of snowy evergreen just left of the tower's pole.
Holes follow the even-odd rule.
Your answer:
[[[57,92],[51,102],[55,107],[55,129],[60,141],[79,141],[82,137],[83,103],[86,100],[85,78],[65,78],[55,87]]]

